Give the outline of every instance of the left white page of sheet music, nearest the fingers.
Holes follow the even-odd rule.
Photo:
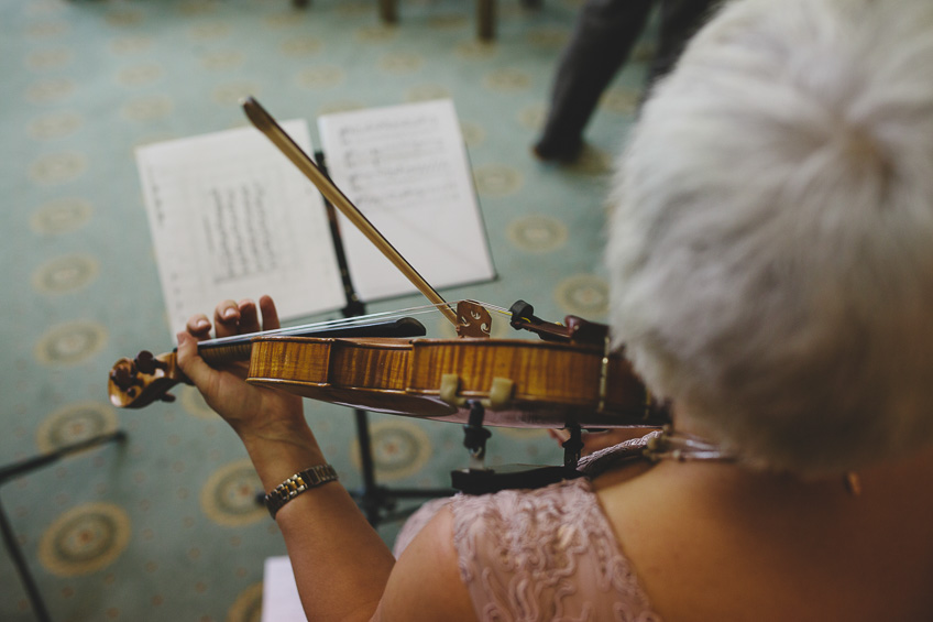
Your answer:
[[[305,121],[284,129],[311,152]],[[283,320],[345,304],[323,199],[257,130],[146,145],[136,164],[173,334],[271,295]]]

